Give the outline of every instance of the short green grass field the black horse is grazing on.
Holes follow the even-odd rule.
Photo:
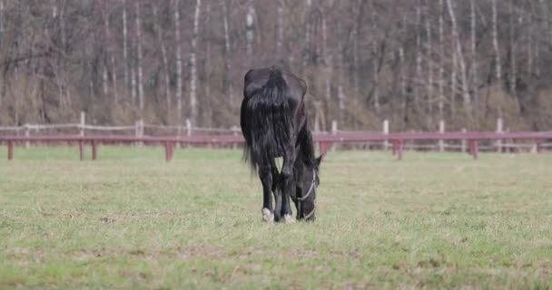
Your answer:
[[[317,221],[267,225],[238,150],[5,151],[1,289],[552,287],[550,154],[330,153]]]

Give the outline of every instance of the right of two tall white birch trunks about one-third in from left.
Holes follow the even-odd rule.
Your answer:
[[[190,53],[190,121],[192,126],[197,124],[197,39],[199,34],[199,20],[202,1],[196,0],[193,17],[192,52]]]

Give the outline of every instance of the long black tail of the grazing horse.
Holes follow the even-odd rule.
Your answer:
[[[293,131],[289,94],[281,71],[272,68],[268,81],[247,100],[251,144],[246,144],[245,153],[251,169],[283,156],[289,146]]]

